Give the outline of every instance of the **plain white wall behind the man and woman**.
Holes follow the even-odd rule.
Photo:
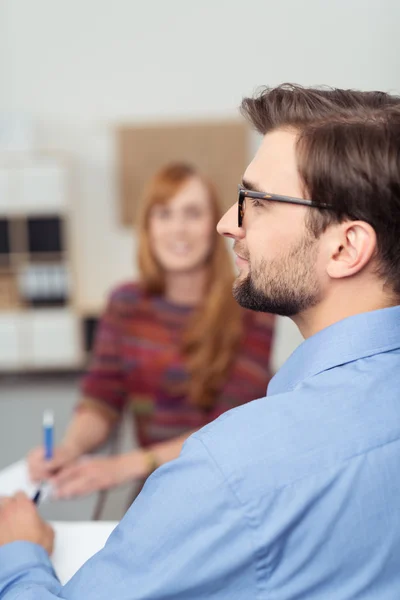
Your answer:
[[[398,0],[0,7],[0,106],[32,114],[40,145],[72,159],[85,306],[134,272],[132,236],[118,223],[114,124],[235,115],[243,95],[283,81],[400,89]]]

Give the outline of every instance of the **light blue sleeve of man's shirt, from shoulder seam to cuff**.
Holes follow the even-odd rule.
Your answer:
[[[203,442],[158,469],[105,548],[61,587],[44,551],[0,548],[3,600],[256,598],[252,528]],[[251,593],[253,592],[253,593]]]

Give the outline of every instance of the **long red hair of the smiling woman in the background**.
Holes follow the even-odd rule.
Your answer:
[[[165,274],[155,260],[149,239],[150,210],[155,204],[168,203],[192,177],[199,177],[209,191],[215,225],[222,216],[214,187],[191,165],[174,163],[156,173],[143,196],[138,228],[140,278],[150,295],[165,292]],[[189,374],[185,393],[194,405],[204,410],[214,406],[242,333],[241,309],[232,296],[232,261],[224,239],[216,230],[212,243],[204,299],[188,323],[181,348]]]

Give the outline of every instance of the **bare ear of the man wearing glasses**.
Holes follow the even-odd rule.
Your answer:
[[[365,221],[345,221],[332,228],[327,272],[333,279],[359,273],[376,252],[376,233]]]

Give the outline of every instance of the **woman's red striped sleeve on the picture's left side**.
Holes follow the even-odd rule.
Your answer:
[[[81,382],[77,409],[98,409],[118,418],[126,401],[126,380],[121,354],[121,316],[118,293],[110,296],[97,326],[89,368]]]

